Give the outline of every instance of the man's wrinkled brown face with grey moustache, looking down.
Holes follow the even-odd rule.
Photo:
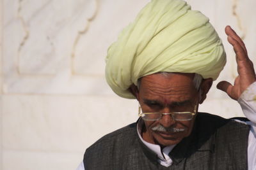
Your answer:
[[[193,85],[194,74],[170,73],[151,74],[141,78],[138,100],[141,110],[146,112],[170,113],[173,111],[191,111],[198,104],[198,92]],[[189,136],[193,129],[192,120],[175,121],[171,115],[163,115],[160,120],[144,121],[143,139],[149,143],[168,146],[179,143]],[[159,130],[159,126],[167,129]]]

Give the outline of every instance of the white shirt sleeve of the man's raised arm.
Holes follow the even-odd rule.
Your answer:
[[[237,100],[241,105],[243,113],[250,122],[248,137],[248,170],[255,170],[256,167],[256,81],[252,83]]]

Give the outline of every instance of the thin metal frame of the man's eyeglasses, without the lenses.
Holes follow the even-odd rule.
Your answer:
[[[153,114],[158,114],[160,115],[159,118],[157,119],[152,119],[152,120],[145,120],[145,121],[156,121],[156,120],[160,120],[163,115],[172,115],[172,118],[173,120],[175,121],[189,121],[189,120],[192,120],[193,117],[196,115],[196,110],[197,110],[197,106],[198,106],[198,103],[196,102],[195,104],[195,108],[194,108],[194,112],[191,112],[191,111],[173,111],[173,112],[170,112],[170,113],[161,113],[161,112],[148,112],[148,113],[143,113],[142,110],[141,110],[141,106],[139,105],[139,113],[138,113],[138,116],[141,117],[143,120],[145,120],[142,115],[153,115]],[[177,120],[173,117],[173,114],[184,114],[184,113],[190,113],[191,114],[191,118],[188,118],[188,119],[184,119],[184,120]]]

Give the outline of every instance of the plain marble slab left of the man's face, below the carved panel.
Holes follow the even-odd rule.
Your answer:
[[[2,103],[6,150],[81,152],[138,118],[136,101],[118,97],[4,95]]]

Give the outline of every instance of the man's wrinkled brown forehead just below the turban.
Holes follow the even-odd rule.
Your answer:
[[[193,73],[156,73],[141,78],[140,97],[143,101],[173,104],[191,102],[196,89]]]

